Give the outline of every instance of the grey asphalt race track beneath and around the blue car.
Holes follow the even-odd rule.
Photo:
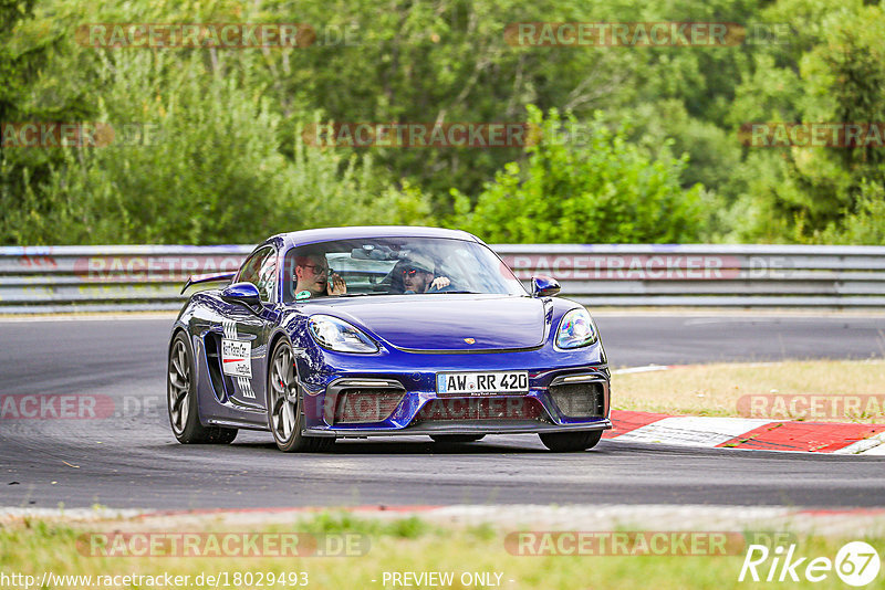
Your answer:
[[[613,367],[885,356],[882,315],[625,313],[597,324]],[[230,446],[179,445],[165,408],[170,325],[0,319],[0,394],[110,396],[116,408],[102,420],[0,420],[0,506],[882,504],[878,457],[605,440],[553,454],[534,435],[449,446],[421,436],[347,441],[325,455],[282,454],[266,433],[241,432]]]

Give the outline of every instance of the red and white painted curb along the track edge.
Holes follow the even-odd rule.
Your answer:
[[[605,439],[683,446],[885,455],[885,424],[772,421],[612,411]]]

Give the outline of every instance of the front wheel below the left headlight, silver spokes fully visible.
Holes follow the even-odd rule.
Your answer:
[[[288,340],[273,347],[268,368],[268,428],[283,453],[322,453],[335,444],[334,436],[305,436],[303,393],[298,386],[294,356]]]

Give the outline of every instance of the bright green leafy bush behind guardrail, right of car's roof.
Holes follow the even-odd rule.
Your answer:
[[[688,242],[704,231],[704,189],[679,185],[687,158],[660,150],[653,160],[611,130],[602,115],[589,127],[529,108],[541,130],[528,160],[508,164],[486,185],[475,206],[457,191],[450,220],[499,243]],[[581,133],[574,133],[580,129]],[[570,133],[570,130],[572,133]],[[574,139],[584,138],[583,145]]]

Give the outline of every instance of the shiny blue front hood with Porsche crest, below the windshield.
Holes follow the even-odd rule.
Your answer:
[[[421,351],[539,347],[552,315],[542,299],[531,297],[439,294],[384,299],[340,299],[316,312],[362,325],[396,348]]]

